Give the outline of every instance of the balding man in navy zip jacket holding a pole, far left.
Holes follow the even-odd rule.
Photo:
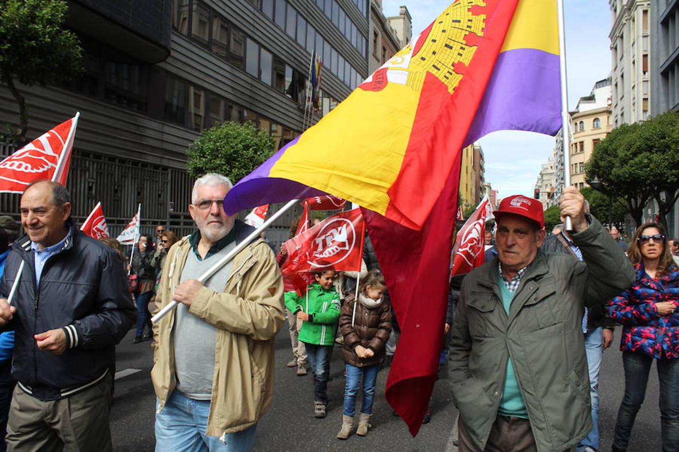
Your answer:
[[[0,285],[0,325],[15,331],[18,380],[8,449],[111,451],[115,344],[135,319],[122,262],[75,228],[64,186],[37,182],[20,206],[28,237],[14,243]]]

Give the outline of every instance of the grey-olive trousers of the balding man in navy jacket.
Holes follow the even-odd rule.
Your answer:
[[[112,451],[111,384],[109,374],[92,388],[46,402],[16,386],[7,422],[7,451]]]

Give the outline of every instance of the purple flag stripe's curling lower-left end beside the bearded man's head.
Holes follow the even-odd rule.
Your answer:
[[[238,181],[234,188],[229,190],[224,199],[224,211],[233,215],[244,209],[252,209],[258,205],[268,203],[282,203],[291,199],[308,198],[325,194],[315,188],[310,188],[299,182],[281,178],[270,178],[269,173],[272,167],[278,162],[280,156],[297,144],[299,137],[292,140],[276,154],[269,157],[255,171],[251,172]]]

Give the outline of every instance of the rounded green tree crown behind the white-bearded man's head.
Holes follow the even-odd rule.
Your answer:
[[[204,129],[189,147],[189,174],[220,173],[235,184],[273,153],[274,139],[253,123],[219,123]]]

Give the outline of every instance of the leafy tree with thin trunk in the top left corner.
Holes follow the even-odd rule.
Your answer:
[[[65,30],[65,0],[0,0],[0,82],[19,106],[19,129],[10,139],[26,141],[29,113],[15,82],[54,85],[82,70],[82,48]],[[12,134],[10,134],[12,135]]]

